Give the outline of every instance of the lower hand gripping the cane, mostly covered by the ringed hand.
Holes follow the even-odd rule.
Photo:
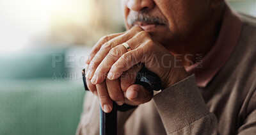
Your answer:
[[[92,51],[90,52],[89,58],[86,60],[86,64],[90,64],[92,60],[97,58],[95,54],[97,54],[102,45],[109,44],[110,40],[122,34],[124,33],[117,33],[101,38],[99,42],[94,45]],[[110,112],[113,107],[112,100],[114,100],[120,106],[124,103],[136,106],[152,99],[152,95],[148,90],[145,90],[145,88],[139,84],[134,84],[136,74],[138,71],[140,71],[141,67],[141,65],[134,66],[133,68],[124,72],[120,79],[106,79],[104,82],[95,85],[91,83],[90,79],[88,79],[88,74],[86,74],[88,71],[88,65],[86,66],[86,84],[94,95],[100,97],[99,99],[101,107],[106,113]],[[107,90],[109,90],[108,93],[106,93]],[[104,105],[106,105],[106,107],[104,107]]]

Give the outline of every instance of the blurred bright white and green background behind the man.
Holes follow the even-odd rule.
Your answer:
[[[228,3],[256,17],[256,0]],[[120,0],[0,0],[0,134],[75,134],[83,61],[124,30]]]

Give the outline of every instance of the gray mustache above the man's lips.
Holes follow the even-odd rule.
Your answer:
[[[161,24],[161,25],[166,24],[166,20],[161,19],[160,17],[147,15],[145,13],[132,13],[132,14],[128,15],[127,22],[131,26],[134,26],[135,22],[153,22],[153,23]]]

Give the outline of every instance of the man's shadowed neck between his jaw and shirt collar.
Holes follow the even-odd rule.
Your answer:
[[[204,20],[204,22],[193,29],[191,35],[182,42],[172,43],[166,47],[173,56],[176,56],[184,67],[188,67],[196,63],[196,56],[202,57],[207,54],[216,42],[221,28],[221,17],[223,13],[223,6],[214,9],[211,15]]]

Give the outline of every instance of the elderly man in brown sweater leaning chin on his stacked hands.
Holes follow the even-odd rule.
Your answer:
[[[122,0],[122,10],[127,31],[86,61],[94,95],[77,134],[99,134],[99,102],[108,113],[112,100],[128,106],[118,134],[256,134],[255,19],[223,0]],[[142,65],[161,79],[154,95],[134,84]]]

